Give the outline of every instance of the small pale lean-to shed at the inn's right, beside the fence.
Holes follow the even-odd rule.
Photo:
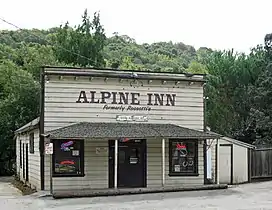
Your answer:
[[[251,181],[251,153],[254,145],[229,137],[221,137],[219,147],[220,184],[241,184]]]

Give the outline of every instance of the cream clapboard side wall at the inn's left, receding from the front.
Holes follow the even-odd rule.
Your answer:
[[[31,154],[29,151],[30,145],[29,145],[29,134],[24,133],[17,136],[16,139],[16,160],[17,160],[17,175],[20,177],[22,181],[25,181],[23,178],[23,167],[20,168],[20,140],[22,141],[22,150],[23,150],[23,144],[28,144],[28,170],[29,170],[29,181],[28,184],[37,190],[40,189],[40,152],[39,152],[39,129],[35,129],[31,132],[34,132],[34,154]],[[24,146],[24,153],[26,154],[26,149]],[[23,151],[22,151],[23,154]],[[26,166],[26,156],[22,155],[22,163]],[[26,170],[26,167],[24,168]]]

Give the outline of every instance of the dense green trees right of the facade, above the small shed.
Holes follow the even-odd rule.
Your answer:
[[[256,118],[252,116],[258,115],[260,120],[261,112],[253,108],[257,104],[255,98],[261,94],[256,88],[262,85],[259,80],[267,62],[261,46],[253,48],[249,55],[223,51],[213,52],[205,59],[209,72],[207,121],[212,130],[248,143],[255,142]]]

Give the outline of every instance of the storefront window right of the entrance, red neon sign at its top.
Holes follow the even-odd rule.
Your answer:
[[[169,175],[198,175],[196,140],[169,140]]]

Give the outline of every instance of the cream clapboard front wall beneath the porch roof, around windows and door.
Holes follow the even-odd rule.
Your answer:
[[[203,144],[198,145],[199,176],[169,177],[168,140],[165,144],[165,184],[167,186],[201,185],[204,183]],[[106,139],[86,139],[85,142],[85,176],[54,177],[53,190],[104,189],[108,188],[108,141]],[[96,147],[106,148],[96,154]],[[161,139],[147,139],[147,187],[160,187],[162,184]],[[46,176],[49,177],[49,171]],[[46,186],[49,188],[49,185]]]

